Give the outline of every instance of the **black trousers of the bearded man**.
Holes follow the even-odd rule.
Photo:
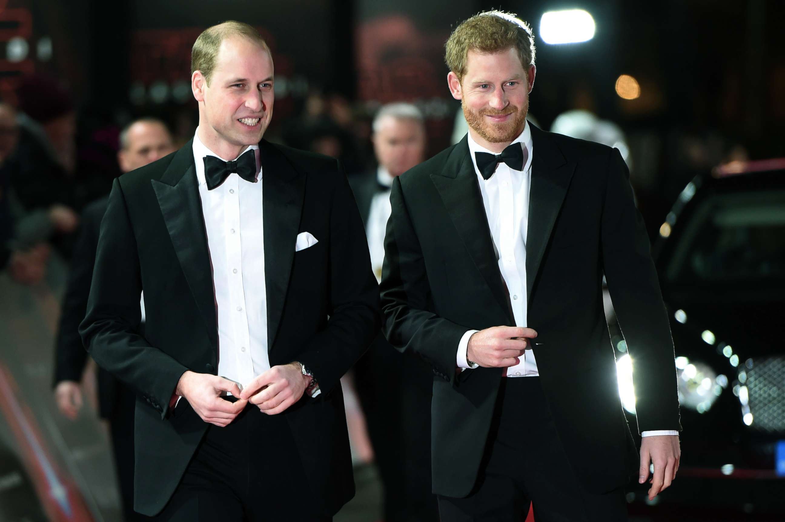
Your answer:
[[[460,458],[456,456],[456,458]],[[466,498],[439,497],[442,522],[526,519],[623,522],[624,492],[583,491],[553,425],[539,377],[502,378],[480,476]]]

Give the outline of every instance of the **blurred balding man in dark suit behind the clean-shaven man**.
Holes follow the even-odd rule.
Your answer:
[[[174,151],[171,134],[158,119],[144,118],[131,122],[121,131],[119,141],[117,160],[122,172],[136,170]],[[84,402],[80,382],[88,356],[79,337],[79,323],[87,310],[100,222],[107,203],[108,196],[105,196],[90,203],[82,213],[60,312],[55,346],[54,396],[60,413],[71,420],[77,417]],[[130,387],[123,385],[108,371],[99,369],[97,381],[98,414],[109,422],[125,520],[142,520],[145,517],[133,511],[133,409],[136,396]]]

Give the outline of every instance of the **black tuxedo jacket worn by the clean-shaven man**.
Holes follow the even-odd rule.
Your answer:
[[[303,495],[332,515],[354,493],[339,379],[378,332],[378,287],[338,162],[267,141],[259,148],[269,360],[298,360],[319,381],[320,396],[282,415],[309,478]],[[319,242],[295,253],[300,232]],[[208,426],[187,403],[170,414],[169,401],[184,371],[217,371],[211,270],[192,142],[115,181],[80,333],[139,396],[134,508],[146,515],[166,505]],[[260,440],[259,451],[275,448]]]

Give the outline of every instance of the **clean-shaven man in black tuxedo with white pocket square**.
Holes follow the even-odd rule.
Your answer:
[[[253,27],[206,29],[193,140],[119,177],[101,224],[80,332],[139,396],[134,508],[158,520],[331,520],[354,492],[339,379],[378,287],[338,162],[261,139],[273,82]]]

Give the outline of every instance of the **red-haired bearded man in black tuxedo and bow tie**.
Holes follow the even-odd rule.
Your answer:
[[[619,151],[526,122],[531,29],[487,12],[447,41],[469,134],[396,178],[382,308],[392,345],[433,367],[442,520],[626,520],[628,473],[670,485],[674,348]],[[604,321],[635,361],[640,466]]]

